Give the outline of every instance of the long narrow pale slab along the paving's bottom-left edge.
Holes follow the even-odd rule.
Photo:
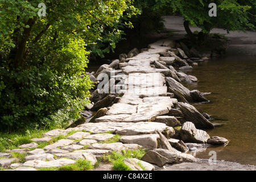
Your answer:
[[[68,164],[76,163],[75,160],[72,159],[57,159],[52,161],[43,161],[43,160],[29,160],[23,164],[24,167],[35,167],[35,168],[42,168],[42,167],[61,167]]]

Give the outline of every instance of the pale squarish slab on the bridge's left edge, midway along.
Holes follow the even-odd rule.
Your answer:
[[[106,112],[106,115],[116,114],[134,114],[137,111],[137,105],[130,105],[124,103],[113,104]]]

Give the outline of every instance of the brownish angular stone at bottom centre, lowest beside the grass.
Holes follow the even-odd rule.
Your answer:
[[[166,157],[153,150],[147,151],[147,153],[143,155],[142,160],[148,163],[156,164],[159,167],[162,167],[168,163],[168,159]]]

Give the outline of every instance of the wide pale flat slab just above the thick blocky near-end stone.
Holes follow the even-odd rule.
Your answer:
[[[161,132],[168,126],[164,123],[158,122],[138,122],[133,125],[123,126],[115,131],[118,135],[142,135],[142,134],[154,134],[156,129]]]

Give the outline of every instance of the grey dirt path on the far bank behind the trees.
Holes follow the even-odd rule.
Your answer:
[[[183,17],[181,16],[163,16],[164,24],[168,31],[175,31],[177,35],[184,36],[186,34],[183,27]],[[201,28],[190,27],[191,31],[201,31]],[[221,28],[213,28],[211,33],[219,33],[225,35],[229,40],[229,47],[226,55],[246,55],[256,56],[256,32],[232,31],[229,34]]]

